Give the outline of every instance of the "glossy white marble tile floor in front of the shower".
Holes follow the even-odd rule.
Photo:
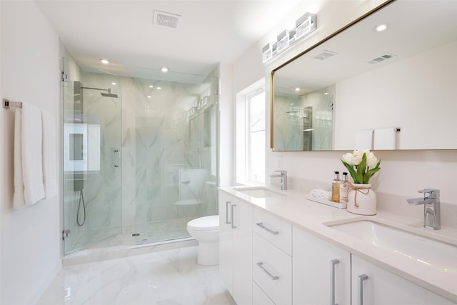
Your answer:
[[[236,305],[197,247],[64,266],[37,305]]]

